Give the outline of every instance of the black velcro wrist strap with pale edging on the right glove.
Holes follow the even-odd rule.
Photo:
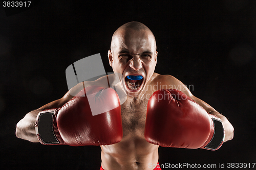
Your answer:
[[[222,143],[224,139],[224,129],[222,122],[218,119],[211,118],[214,122],[214,135],[212,136],[210,142],[204,147],[209,150],[216,150]]]

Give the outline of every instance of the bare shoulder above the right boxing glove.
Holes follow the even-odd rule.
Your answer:
[[[171,75],[154,74],[152,84],[157,85],[159,89],[178,89],[188,96],[191,96],[191,92],[187,86]]]

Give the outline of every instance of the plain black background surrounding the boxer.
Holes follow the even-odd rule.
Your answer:
[[[9,17],[0,7],[2,169],[99,169],[100,147],[32,143],[16,138],[15,126],[67,92],[65,70],[71,63],[100,53],[111,72],[112,34],[129,21],[155,34],[155,71],[190,85],[235,129],[233,140],[218,151],[160,147],[159,163],[256,162],[256,1],[47,0]]]

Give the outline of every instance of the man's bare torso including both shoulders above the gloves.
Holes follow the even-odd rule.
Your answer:
[[[109,77],[111,80],[111,77]],[[103,83],[102,83],[103,82]],[[98,85],[108,88],[105,79],[80,83],[70,93],[79,92],[84,86]],[[187,95],[189,90],[176,78],[154,73],[148,81],[142,96],[127,98],[121,104],[123,138],[112,145],[101,145],[101,165],[105,170],[115,169],[154,169],[152,164],[158,162],[158,145],[147,142],[144,138],[147,102],[150,96],[159,89],[176,88]],[[70,96],[72,99],[72,96]]]

